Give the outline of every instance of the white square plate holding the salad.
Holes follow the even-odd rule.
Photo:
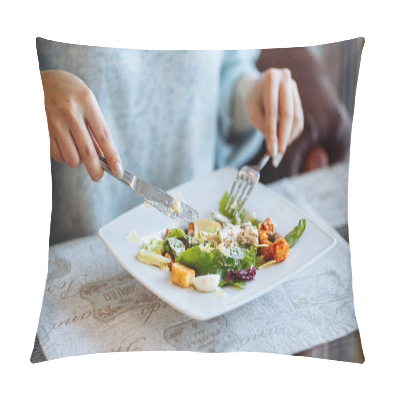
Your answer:
[[[200,212],[200,218],[207,218],[211,211],[218,210],[218,203],[224,191],[230,190],[236,174],[237,170],[233,168],[222,168],[168,192],[170,195],[180,192],[187,204]],[[132,229],[136,229],[144,241],[149,241],[154,236],[164,236],[167,228],[180,227],[153,207],[141,204],[122,214],[100,228],[99,237],[120,264],[151,292],[185,315],[207,320],[270,291],[336,244],[336,240],[313,220],[261,183],[255,186],[245,208],[256,213],[260,220],[271,217],[280,235],[291,231],[302,218],[306,219],[306,229],[285,261],[259,270],[252,281],[246,281],[244,289],[224,287],[226,295],[222,297],[216,296],[215,292],[198,292],[194,287],[181,288],[171,282],[169,272],[137,261],[135,255],[140,244],[125,239]]]

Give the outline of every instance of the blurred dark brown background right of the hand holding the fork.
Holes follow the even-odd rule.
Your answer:
[[[261,181],[268,183],[295,174],[348,161],[351,124],[364,38],[331,44],[263,49],[257,67],[287,67],[298,84],[305,116],[302,135],[287,149],[278,167],[269,162]],[[261,151],[250,163],[256,163]]]

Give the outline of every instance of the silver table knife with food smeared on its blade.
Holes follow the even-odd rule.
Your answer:
[[[180,224],[195,222],[200,217],[199,212],[188,204],[185,204],[184,202],[170,196],[161,189],[154,187],[143,180],[140,180],[135,175],[128,173],[127,171],[123,172],[122,178],[118,178],[110,170],[107,160],[101,155],[99,155],[99,159],[100,164],[106,173],[112,175],[118,181],[121,181],[127,185],[139,197],[142,197],[146,201],[146,204],[156,208],[162,214],[168,216]]]

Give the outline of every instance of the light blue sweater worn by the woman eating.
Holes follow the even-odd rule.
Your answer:
[[[259,51],[146,51],[38,38],[37,53],[41,71],[66,70],[86,83],[124,169],[161,189],[240,167],[261,147],[256,130],[230,132],[232,90],[241,76],[257,73]],[[107,175],[92,182],[83,165],[51,166],[51,244],[95,234],[142,202]]]

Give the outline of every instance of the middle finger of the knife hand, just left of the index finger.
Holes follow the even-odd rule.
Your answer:
[[[70,131],[90,178],[93,181],[99,181],[103,177],[103,169],[82,116],[79,119],[70,119]]]

